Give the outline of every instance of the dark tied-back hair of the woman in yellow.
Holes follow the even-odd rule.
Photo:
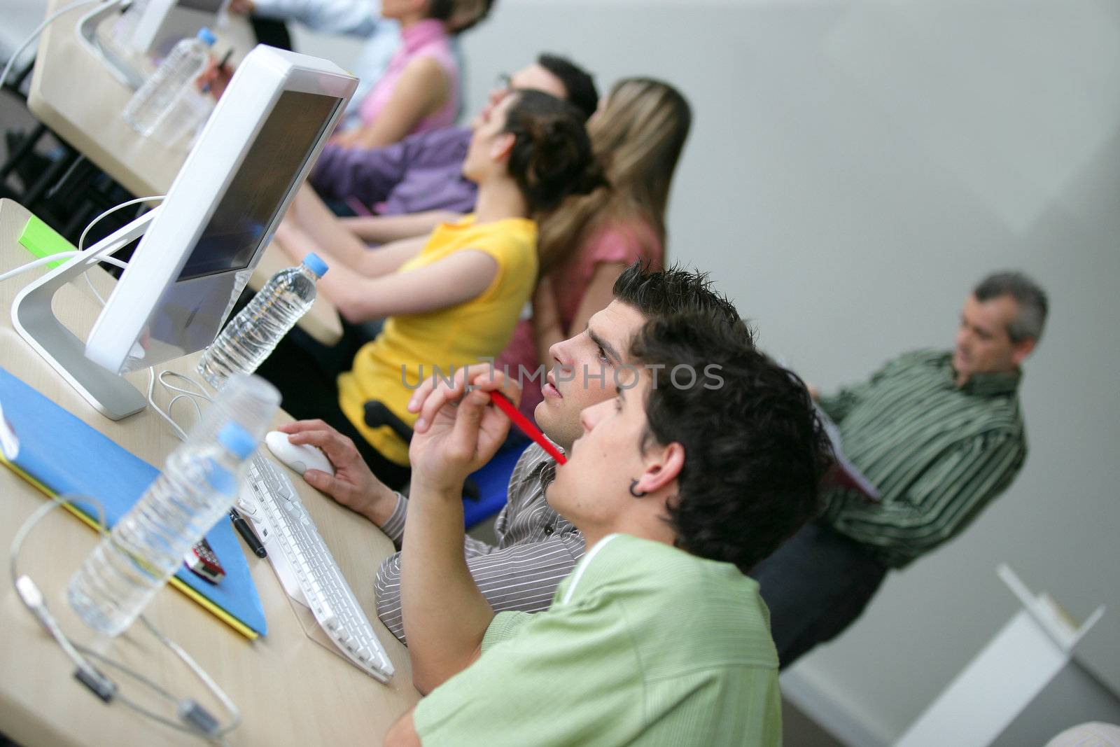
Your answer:
[[[550,211],[571,194],[606,184],[576,106],[542,91],[515,91],[505,118],[514,136],[510,176],[532,212]]]

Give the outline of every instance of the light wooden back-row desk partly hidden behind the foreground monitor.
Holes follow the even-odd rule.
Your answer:
[[[67,1],[50,0],[47,12]],[[92,7],[72,10],[43,31],[27,106],[40,122],[132,194],[166,195],[187,158],[187,141],[168,146],[142,138],[121,118],[132,91],[113,77],[75,32],[78,19]],[[217,32],[222,37],[218,48],[232,45],[236,59],[255,46],[244,19],[234,18]],[[259,289],[277,270],[290,265],[282,252],[269,246],[249,284]],[[326,299],[316,300],[300,319],[300,328],[324,345],[334,345],[342,338],[338,314]]]

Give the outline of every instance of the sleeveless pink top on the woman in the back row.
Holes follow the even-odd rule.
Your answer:
[[[442,21],[428,18],[419,24],[401,30],[401,48],[393,55],[389,68],[377,81],[373,90],[362,102],[358,115],[362,124],[373,122],[389,103],[396,84],[413,59],[431,57],[444,69],[448,77],[448,96],[444,105],[435,114],[427,116],[409,131],[409,134],[428,132],[455,123],[455,113],[459,110],[459,68],[451,50],[451,38],[447,35]]]

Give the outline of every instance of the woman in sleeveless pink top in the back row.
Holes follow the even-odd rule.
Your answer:
[[[493,0],[383,0],[381,15],[401,26],[401,48],[362,102],[362,124],[337,136],[344,148],[383,148],[455,123],[459,67],[449,29],[482,20]]]

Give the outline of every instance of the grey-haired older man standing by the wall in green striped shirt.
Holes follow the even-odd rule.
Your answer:
[[[829,491],[824,514],[752,572],[783,667],[847,628],[889,569],[962,532],[1011,484],[1027,456],[1019,365],[1046,311],[1030,279],[989,276],[964,301],[953,351],[907,353],[819,398],[879,498]]]

